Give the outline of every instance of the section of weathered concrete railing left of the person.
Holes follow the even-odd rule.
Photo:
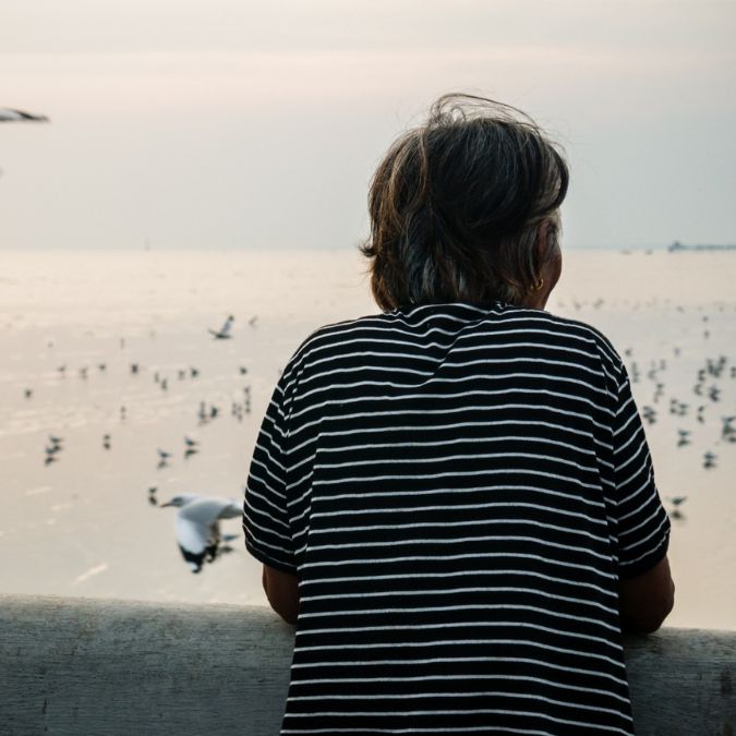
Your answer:
[[[278,734],[292,630],[264,608],[0,598],[0,734]]]

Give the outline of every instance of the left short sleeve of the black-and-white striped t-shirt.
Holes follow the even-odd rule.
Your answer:
[[[297,574],[287,509],[286,419],[283,386],[276,386],[253,450],[245,485],[245,547],[260,562]]]

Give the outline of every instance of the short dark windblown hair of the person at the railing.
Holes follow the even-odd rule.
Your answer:
[[[369,193],[371,288],[383,310],[467,301],[521,303],[538,281],[535,243],[567,193],[567,165],[526,113],[444,95],[401,135]]]

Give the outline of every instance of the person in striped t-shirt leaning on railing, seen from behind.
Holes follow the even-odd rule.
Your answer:
[[[289,360],[245,492],[295,626],[283,734],[634,734],[622,632],[673,606],[626,367],[545,311],[562,153],[446,95],[390,146],[362,245],[379,313]]]

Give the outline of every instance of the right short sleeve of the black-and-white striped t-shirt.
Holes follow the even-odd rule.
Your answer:
[[[654,483],[654,469],[626,369],[618,386],[613,433],[619,578],[647,572],[666,554],[669,519]]]

